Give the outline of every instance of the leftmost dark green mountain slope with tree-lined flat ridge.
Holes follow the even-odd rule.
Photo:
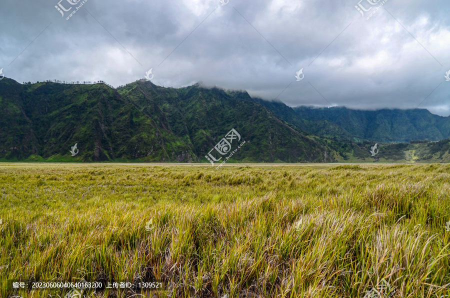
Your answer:
[[[5,80],[5,82],[3,82]],[[102,161],[115,158],[146,161],[172,161],[183,150],[167,152],[167,145],[178,142],[162,133],[159,127],[114,89],[104,85],[70,85],[58,83],[14,84],[8,92],[0,81],[0,109],[10,121],[1,125],[0,157],[24,158],[36,154],[55,160]],[[17,98],[15,100],[11,100]],[[14,104],[12,113],[6,108]],[[27,121],[31,137],[21,137],[20,147],[5,142],[6,135],[23,130]],[[71,158],[68,149],[77,143],[79,154]],[[17,149],[10,150],[11,147]],[[30,149],[32,148],[32,149]],[[173,159],[173,155],[176,155]],[[194,158],[185,156],[187,160]]]

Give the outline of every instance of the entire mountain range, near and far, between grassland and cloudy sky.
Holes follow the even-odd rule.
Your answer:
[[[0,110],[5,161],[208,162],[211,150],[225,157],[214,146],[231,129],[245,143],[229,162],[450,160],[447,140],[389,144],[448,137],[448,118],[426,110],[291,108],[199,83],[170,88],[142,79],[114,89],[4,78]],[[375,142],[382,153],[374,158]]]

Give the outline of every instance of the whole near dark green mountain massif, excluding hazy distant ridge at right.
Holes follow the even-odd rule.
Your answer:
[[[4,78],[0,159],[206,162],[234,128],[245,144],[233,161],[331,161],[319,142],[249,97],[199,84],[175,89],[139,80],[113,89]],[[75,143],[79,153],[71,156]]]

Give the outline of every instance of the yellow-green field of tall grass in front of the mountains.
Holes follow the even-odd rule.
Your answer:
[[[0,296],[7,279],[156,276],[157,297],[363,297],[382,279],[443,297],[449,193],[437,164],[3,163]]]

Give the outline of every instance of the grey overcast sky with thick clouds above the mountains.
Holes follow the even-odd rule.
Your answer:
[[[158,85],[202,81],[290,106],[450,114],[448,0],[58,1],[0,2],[6,77],[118,86],[152,68]]]

